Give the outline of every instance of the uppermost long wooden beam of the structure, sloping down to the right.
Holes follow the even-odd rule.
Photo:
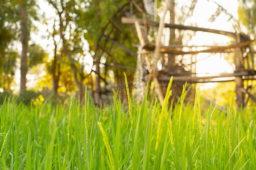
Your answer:
[[[127,18],[127,17],[122,17],[121,22],[124,24],[134,24],[135,22],[138,22],[139,24],[143,24],[142,19],[136,19],[136,18]],[[152,20],[147,20],[147,25],[151,27],[159,27],[159,22],[158,21],[152,21]],[[174,28],[174,29],[184,29],[184,30],[191,30],[191,31],[203,31],[203,32],[209,32],[209,33],[217,33],[220,35],[225,35],[229,37],[237,37],[236,32],[228,32],[228,31],[222,31],[219,29],[210,29],[210,28],[201,28],[201,27],[193,27],[193,26],[185,26],[181,24],[165,24],[165,27],[167,28]],[[243,34],[240,34],[241,36],[246,36]]]

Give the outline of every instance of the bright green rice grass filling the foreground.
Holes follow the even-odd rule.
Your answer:
[[[256,169],[256,108],[201,108],[199,92],[163,110],[147,95],[129,107],[114,96],[102,109],[89,96],[86,107],[5,101],[1,169]]]

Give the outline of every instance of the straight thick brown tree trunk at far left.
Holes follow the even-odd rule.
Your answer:
[[[23,0],[20,5],[20,31],[22,42],[22,53],[20,58],[20,92],[26,90],[27,75],[27,46],[28,46],[28,28],[27,28],[27,1]]]

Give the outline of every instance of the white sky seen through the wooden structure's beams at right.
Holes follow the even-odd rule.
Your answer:
[[[195,7],[195,12],[193,17],[191,18],[191,22],[195,23],[199,21],[208,20],[209,15],[214,14],[216,11],[216,6],[214,3],[199,0]],[[238,19],[237,8],[238,8],[238,1],[234,0],[216,0],[216,2],[224,7],[230,14],[233,15],[235,19]],[[197,22],[198,27],[204,28],[213,28],[213,29],[221,29],[225,31],[234,32],[232,24],[227,22],[228,16],[225,15],[223,12],[218,16],[215,22]],[[198,37],[198,38],[197,38]],[[191,44],[209,44],[214,42],[214,44],[218,45],[226,45],[232,39],[227,36],[216,35],[213,33],[204,33],[204,32],[196,32],[196,36],[192,38]],[[200,42],[198,42],[200,41]],[[198,54],[197,59],[204,58],[209,56],[209,54]],[[213,56],[203,59],[200,62],[197,62],[196,65],[196,72],[197,73],[232,73],[234,71],[234,65],[229,65],[229,63],[224,59],[223,54],[214,54]],[[206,76],[207,74],[201,74],[199,76]],[[207,89],[209,87],[215,87],[217,83],[204,83],[201,84],[201,90]]]

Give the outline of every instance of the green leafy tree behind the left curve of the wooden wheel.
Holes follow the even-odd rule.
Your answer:
[[[106,42],[106,49],[111,49],[112,56],[109,57],[106,53],[96,53],[94,56],[94,66],[93,71],[96,73],[95,83],[94,83],[94,103],[100,104],[100,97],[102,93],[100,87],[100,80],[105,79],[108,75],[108,71],[113,71],[115,74],[114,79],[116,80],[116,84],[121,84],[124,82],[123,79],[123,69],[117,69],[113,67],[107,67],[106,65],[100,67],[100,58],[105,58],[106,63],[115,63],[117,65],[124,65],[134,67],[136,65],[136,59],[134,57],[127,57],[130,56],[129,53],[125,52],[123,49],[119,48],[119,46],[108,43],[105,38],[110,37],[115,42],[119,42],[123,46],[126,46],[127,49],[133,50],[136,53],[136,49],[134,48],[133,44],[131,44],[131,40],[137,40],[137,34],[133,28],[127,27],[127,25],[120,24],[119,20],[115,20],[118,18],[114,18],[112,22],[115,22],[119,28],[121,28],[122,33],[116,32],[117,30],[111,27],[112,24],[109,24],[109,27],[105,27],[105,25],[110,22],[110,19],[114,15],[114,12],[118,10],[119,7],[124,5],[127,1],[117,1],[117,0],[106,0],[100,1],[96,0],[93,2],[89,2],[85,6],[84,12],[84,22],[81,24],[86,25],[86,33],[85,39],[88,40],[90,49],[95,49],[97,41],[100,39],[102,29],[105,29],[104,34],[105,36],[102,37],[102,41]],[[123,10],[125,11],[125,10]],[[124,12],[125,13],[125,12]],[[119,15],[119,14],[118,14]],[[138,41],[138,40],[137,40]],[[133,80],[133,76],[130,77]],[[106,87],[106,81],[105,87]],[[132,85],[132,84],[131,84]],[[125,90],[125,88],[123,88]],[[119,94],[122,91],[119,90]]]

